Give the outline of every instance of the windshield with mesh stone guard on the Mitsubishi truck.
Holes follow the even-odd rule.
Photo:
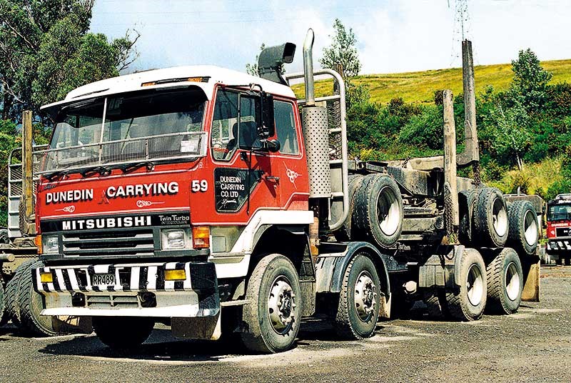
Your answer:
[[[80,102],[61,111],[43,173],[206,155],[201,89],[140,91]]]

